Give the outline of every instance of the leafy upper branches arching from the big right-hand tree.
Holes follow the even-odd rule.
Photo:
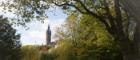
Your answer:
[[[61,3],[60,3],[61,2]],[[56,6],[63,7],[65,9],[69,9],[71,7],[78,10],[78,12],[82,14],[92,15],[93,17],[100,20],[108,30],[116,30],[121,27],[121,14],[120,11],[121,7],[119,4],[112,0],[52,0],[52,3]],[[115,6],[113,5],[115,3]],[[71,8],[72,9],[72,8]],[[111,12],[114,11],[115,13],[112,14]],[[120,13],[120,14],[118,14]],[[116,19],[116,18],[120,19]],[[120,21],[118,21],[120,20]],[[116,27],[116,28],[114,28]],[[110,33],[113,33],[110,31]]]

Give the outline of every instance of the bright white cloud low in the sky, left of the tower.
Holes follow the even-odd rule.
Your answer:
[[[43,31],[29,30],[21,36],[23,45],[45,44],[45,33]]]

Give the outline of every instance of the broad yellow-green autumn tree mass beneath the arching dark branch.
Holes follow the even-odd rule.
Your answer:
[[[56,59],[122,60],[120,49],[96,18],[73,13],[62,28],[57,33]]]

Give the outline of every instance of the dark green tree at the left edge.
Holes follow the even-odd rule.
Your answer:
[[[0,60],[20,59],[20,35],[8,22],[0,16]]]

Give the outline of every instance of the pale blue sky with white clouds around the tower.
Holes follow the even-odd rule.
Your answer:
[[[3,8],[0,7],[0,15],[4,15],[6,17],[12,18],[15,17],[10,12],[4,13]],[[57,27],[61,26],[61,24],[65,21],[67,15],[63,13],[60,8],[50,8],[46,12],[48,18],[45,19],[44,23],[39,21],[32,21],[27,24],[29,27],[26,30],[24,27],[16,26],[17,33],[21,34],[21,43],[22,45],[42,45],[46,42],[46,30],[48,24],[50,25],[52,31],[52,41],[55,41],[53,37],[55,34],[55,30]]]

